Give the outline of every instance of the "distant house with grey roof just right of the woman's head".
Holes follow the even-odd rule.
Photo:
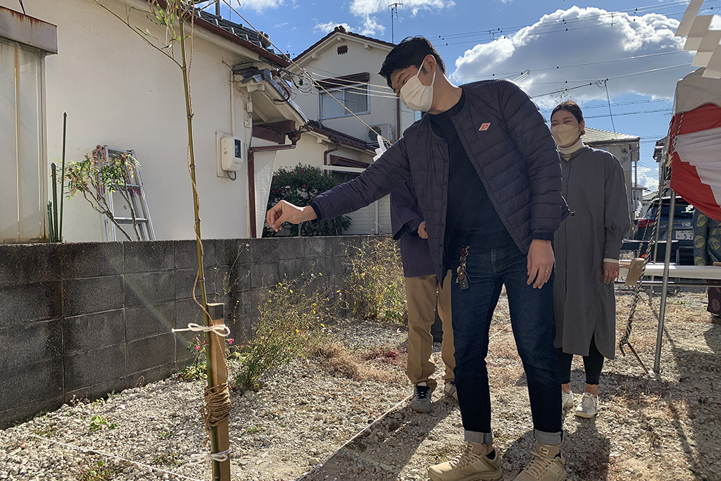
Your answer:
[[[626,193],[629,198],[629,212],[634,216],[641,201],[638,196],[642,195],[642,191],[633,188],[634,185],[637,185],[637,178],[634,178],[634,175],[638,169],[641,139],[625,133],[602,131],[590,127],[585,128],[585,136],[582,139],[585,144],[593,147],[593,149],[609,151],[616,156],[616,159],[619,159],[621,167],[624,169]]]

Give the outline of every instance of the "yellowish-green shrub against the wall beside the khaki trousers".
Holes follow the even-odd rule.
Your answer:
[[[405,279],[397,242],[391,237],[364,240],[348,247],[350,276],[346,290],[353,298],[353,317],[407,324]]]

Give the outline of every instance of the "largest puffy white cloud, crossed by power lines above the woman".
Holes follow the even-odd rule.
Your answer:
[[[611,16],[602,9],[573,6],[544,15],[536,24],[513,35],[466,50],[464,56],[456,60],[452,78],[459,83],[513,79],[528,69],[531,74],[518,83],[531,95],[609,79],[611,97],[632,92],[673,97],[676,81],[694,70],[691,67],[693,53],[677,53],[682,50],[685,39],[674,37],[676,27],[678,20],[660,14],[631,17],[616,12]],[[659,53],[663,55],[657,55]],[[636,58],[603,62],[628,57]],[[579,63],[586,65],[578,66]],[[626,76],[681,64],[687,68]],[[616,78],[619,76],[624,77]],[[575,100],[605,100],[606,92],[592,86],[575,89],[567,96]],[[554,102],[552,97],[545,98]]]

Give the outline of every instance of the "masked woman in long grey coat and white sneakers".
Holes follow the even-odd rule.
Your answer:
[[[585,389],[575,415],[593,418],[598,410],[598,379],[603,359],[616,348],[614,280],[629,230],[624,171],[609,152],[583,144],[580,107],[567,100],[554,108],[551,133],[561,154],[562,193],[572,212],[556,231],[557,356],[563,407],[572,407],[570,376],[574,354],[583,356]]]

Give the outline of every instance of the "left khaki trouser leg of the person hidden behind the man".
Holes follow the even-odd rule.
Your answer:
[[[435,275],[409,277],[406,281],[406,300],[408,303],[408,363],[406,374],[413,384],[425,381],[430,389],[435,389],[435,372],[431,360],[433,336],[430,327],[435,321]]]

